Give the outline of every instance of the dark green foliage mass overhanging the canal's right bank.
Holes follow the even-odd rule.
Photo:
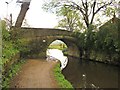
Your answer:
[[[93,32],[93,28],[89,28],[83,33],[74,32],[73,36],[79,40],[79,46],[86,54],[89,51],[89,58],[99,61],[109,61],[118,64],[119,61],[119,28],[120,20],[111,19],[100,27],[99,31]]]

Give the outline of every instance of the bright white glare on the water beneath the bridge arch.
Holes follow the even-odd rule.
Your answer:
[[[46,60],[59,60],[61,62],[61,67],[60,69],[63,70],[67,63],[68,63],[68,58],[63,55],[63,52],[58,49],[48,49],[47,50],[47,59]]]

